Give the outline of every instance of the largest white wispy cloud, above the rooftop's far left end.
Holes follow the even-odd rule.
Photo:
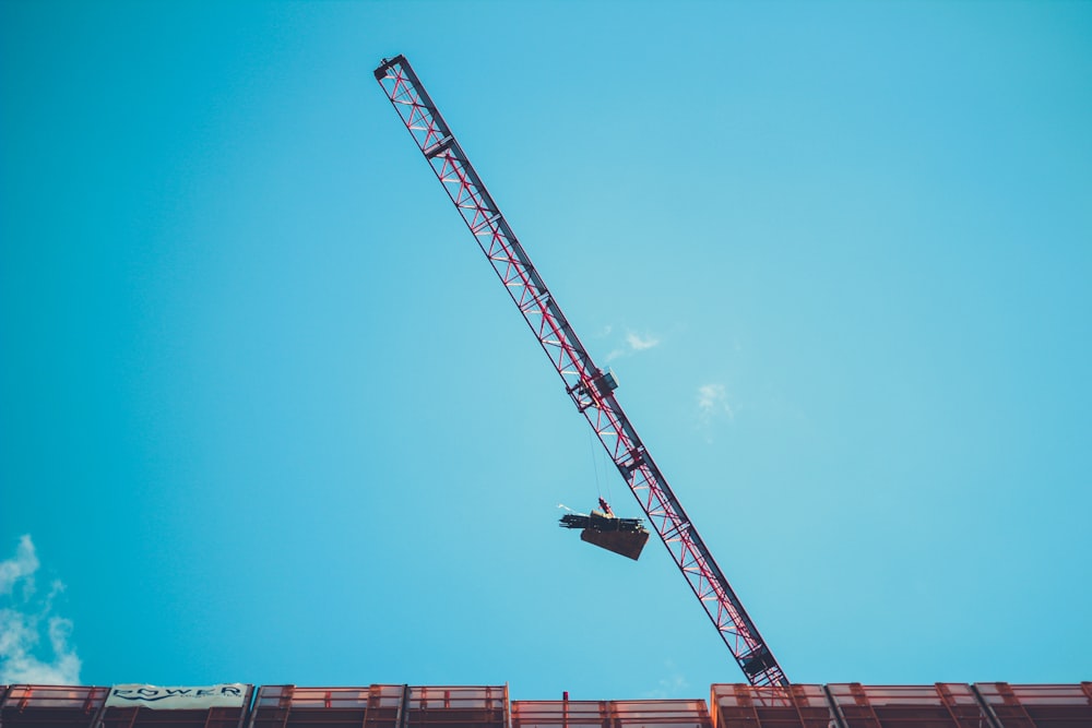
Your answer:
[[[34,581],[39,565],[29,536],[19,540],[13,558],[0,561],[0,683],[80,684],[72,621],[52,613],[64,585],[55,581],[39,597]]]

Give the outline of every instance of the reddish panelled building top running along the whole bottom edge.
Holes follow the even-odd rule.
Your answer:
[[[1078,684],[756,687],[691,700],[520,701],[508,685],[0,685],[0,728],[1090,728]]]

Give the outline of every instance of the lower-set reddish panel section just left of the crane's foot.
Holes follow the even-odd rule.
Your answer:
[[[512,701],[512,728],[713,728],[703,700]]]

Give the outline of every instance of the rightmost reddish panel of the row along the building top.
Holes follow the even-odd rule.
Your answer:
[[[1010,685],[978,682],[974,689],[1000,728],[1092,727],[1092,682],[1063,685]]]

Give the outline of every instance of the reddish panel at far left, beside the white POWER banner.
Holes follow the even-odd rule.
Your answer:
[[[9,685],[0,703],[3,728],[92,728],[109,688]]]

